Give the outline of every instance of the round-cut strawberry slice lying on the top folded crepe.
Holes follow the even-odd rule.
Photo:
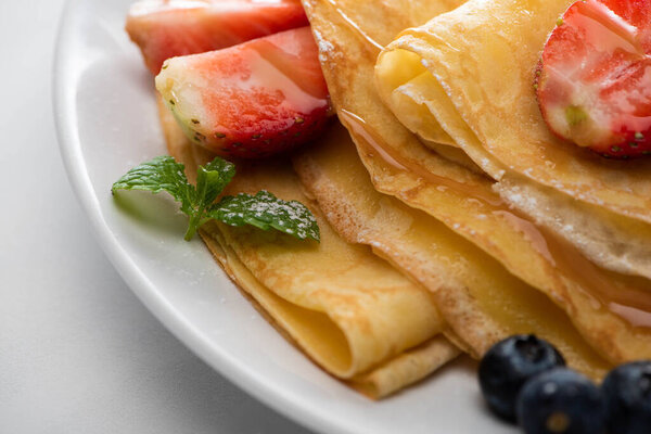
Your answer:
[[[577,1],[557,24],[536,72],[551,131],[608,157],[651,154],[651,1]]]

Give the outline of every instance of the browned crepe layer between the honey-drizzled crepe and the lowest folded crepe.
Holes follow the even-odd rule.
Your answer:
[[[545,295],[441,221],[375,191],[348,132],[337,125],[294,157],[294,167],[333,228],[367,244],[432,291],[475,358],[518,333],[561,349],[570,366],[600,379],[610,367]]]

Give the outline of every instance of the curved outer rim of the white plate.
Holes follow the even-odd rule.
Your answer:
[[[66,0],[59,18],[52,64],[52,110],[60,154],[71,188],[84,214],[90,221],[94,239],[125,281],[131,292],[150,312],[184,346],[247,395],[261,401],[289,420],[319,433],[355,434],[347,426],[336,423],[339,418],[311,410],[301,400],[293,399],[282,390],[269,385],[263,378],[240,365],[218,345],[210,345],[197,330],[186,321],[161,295],[154,283],[131,259],[106,224],[98,197],[92,189],[87,162],[84,158],[78,124],[75,116],[76,86],[72,77],[75,67],[72,41],[75,26],[72,25],[82,0]],[[224,272],[221,270],[221,272]]]

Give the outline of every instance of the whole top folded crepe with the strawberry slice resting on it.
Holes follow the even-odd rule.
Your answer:
[[[646,167],[651,167],[649,163],[605,161],[590,151],[561,143],[548,132],[539,114],[533,71],[556,18],[550,22],[551,27],[540,23],[549,22],[551,11],[559,10],[560,3],[563,2],[467,4],[408,30],[380,58],[378,89],[394,113],[418,112],[420,124],[435,125],[431,128],[443,128],[451,135],[456,145],[501,181],[495,188],[510,205],[558,233],[599,266],[651,278],[651,226],[636,220],[648,221],[643,217],[646,212],[640,210],[647,206],[643,205],[648,201],[647,190],[636,186],[651,179],[646,171]],[[526,22],[523,27],[490,34],[496,24],[485,23],[486,16],[490,20],[509,16],[514,21],[506,23],[520,23],[521,20],[509,14],[522,11],[531,15],[527,20],[536,20],[536,24]],[[467,14],[473,18],[467,20]],[[541,28],[546,29],[542,35]],[[508,43],[513,44],[519,38],[527,43],[518,43],[518,50],[509,49]],[[539,39],[539,44],[533,39]],[[515,53],[519,63],[511,62],[511,53]],[[483,102],[478,103],[480,100]],[[516,103],[511,104],[512,101]],[[401,120],[419,133],[422,127],[410,122],[412,118],[403,115]],[[493,133],[481,132],[480,124],[485,128],[490,126]],[[525,157],[526,150],[537,152],[537,159],[528,154]],[[505,153],[510,157],[503,156]],[[622,191],[626,194],[621,194]],[[608,201],[607,195],[614,202]],[[628,201],[628,205],[615,206],[620,200]]]

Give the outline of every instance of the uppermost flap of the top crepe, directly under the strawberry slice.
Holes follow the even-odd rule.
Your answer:
[[[609,161],[563,143],[550,133],[538,110],[533,81],[540,50],[572,3],[471,0],[406,31],[390,49],[404,48],[421,58],[481,148],[499,165],[580,201],[651,222],[651,162]],[[501,178],[494,165],[482,167]]]

